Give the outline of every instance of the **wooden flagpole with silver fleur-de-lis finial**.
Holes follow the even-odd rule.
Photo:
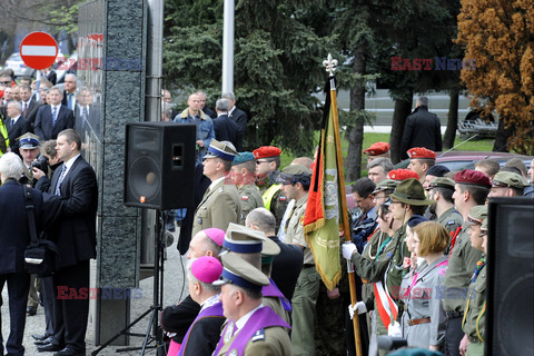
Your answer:
[[[328,53],[328,59],[323,62],[326,67],[326,71],[329,73],[330,80],[330,110],[334,121],[334,137],[336,141],[336,155],[337,155],[337,174],[339,176],[339,195],[342,202],[342,216],[343,216],[343,233],[345,236],[345,241],[350,243],[350,227],[348,226],[348,208],[347,208],[347,198],[345,191],[345,175],[343,172],[343,155],[342,155],[342,140],[339,135],[339,118],[337,113],[337,98],[336,98],[336,83],[334,81],[334,71],[336,70],[337,60],[332,58],[332,55]],[[350,288],[350,304],[354,306],[357,303],[358,296],[356,294],[356,284],[354,279],[354,269],[353,264],[347,260],[347,273],[348,273],[348,284]],[[354,340],[356,345],[356,355],[362,356],[362,340],[359,338],[359,320],[358,312],[354,313],[353,317],[354,325]]]

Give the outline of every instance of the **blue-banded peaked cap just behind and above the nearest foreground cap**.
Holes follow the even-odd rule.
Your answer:
[[[226,230],[222,248],[237,254],[264,254],[275,256],[280,253],[280,247],[264,231],[250,229],[246,226],[230,222]]]

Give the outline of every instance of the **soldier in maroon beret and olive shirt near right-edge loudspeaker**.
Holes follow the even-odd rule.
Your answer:
[[[467,220],[471,208],[484,205],[490,192],[490,178],[476,170],[464,169],[454,175],[454,205],[464,221]],[[464,337],[462,332],[462,317],[465,310],[466,290],[475,270],[482,251],[473,248],[469,243],[468,225],[464,224],[456,238],[451,243],[452,249],[448,257],[448,267],[445,275],[446,295],[443,309],[445,322],[445,355],[459,355],[459,342]]]

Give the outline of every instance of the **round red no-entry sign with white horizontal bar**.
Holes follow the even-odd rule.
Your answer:
[[[20,57],[30,68],[48,68],[53,65],[57,56],[58,43],[47,32],[31,32],[20,43]]]

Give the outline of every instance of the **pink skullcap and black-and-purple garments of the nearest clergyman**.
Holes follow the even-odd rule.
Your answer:
[[[211,284],[220,278],[222,265],[215,257],[202,256],[192,261],[190,273],[199,281]],[[222,304],[218,297],[219,295],[215,294],[201,300],[200,313],[187,330],[178,354],[169,350],[168,355],[211,355],[219,340],[220,328],[226,320]]]

